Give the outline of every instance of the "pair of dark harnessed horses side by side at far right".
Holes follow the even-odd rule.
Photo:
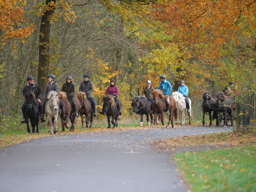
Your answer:
[[[203,111],[203,121],[202,125],[205,125],[204,116],[206,113],[209,114],[210,123],[212,126],[212,120],[216,119],[216,126],[221,125],[223,117],[223,127],[227,127],[228,120],[231,120],[231,126],[233,126],[232,113],[234,111],[232,99],[225,96],[223,92],[219,92],[215,97],[211,97],[211,93],[206,91],[202,96],[202,111]],[[213,112],[213,116],[212,116]]]

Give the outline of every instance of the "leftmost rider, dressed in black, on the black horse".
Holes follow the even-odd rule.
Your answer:
[[[38,102],[38,108],[39,108],[39,112],[40,112],[40,118],[41,118],[41,122],[45,122],[45,119],[43,118],[43,107],[42,107],[42,103],[41,103],[41,99],[42,99],[42,90],[40,88],[40,86],[37,83],[34,83],[34,78],[32,76],[28,76],[27,78],[28,84],[24,86],[23,90],[22,90],[22,94],[23,96],[26,95],[26,93],[34,93],[36,96],[36,101]],[[25,118],[26,114],[25,114],[25,109],[26,109],[26,105],[27,102],[26,100],[24,101],[21,110],[22,110],[22,114],[23,114],[23,118],[24,120],[21,121],[21,123],[28,123],[28,119]]]

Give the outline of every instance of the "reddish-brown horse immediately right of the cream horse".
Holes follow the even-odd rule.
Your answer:
[[[64,109],[65,109],[65,114],[68,117],[66,121],[64,121],[63,119],[63,114],[61,113],[60,117],[61,117],[61,126],[62,126],[62,131],[65,131],[65,128],[69,128],[69,125],[67,124],[68,119],[70,119],[71,122],[71,127],[69,129],[69,131],[74,131],[74,124],[76,124],[76,116],[74,116],[74,112],[73,112],[73,108],[72,108],[72,104],[71,102],[67,99],[67,95],[65,92],[59,92],[59,99],[61,100]],[[79,100],[77,98],[74,98],[76,101],[76,106],[79,106]],[[77,110],[78,111],[78,110]]]

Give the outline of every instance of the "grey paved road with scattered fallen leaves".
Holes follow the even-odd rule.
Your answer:
[[[116,129],[54,135],[0,149],[1,192],[187,192],[152,141],[230,128]]]

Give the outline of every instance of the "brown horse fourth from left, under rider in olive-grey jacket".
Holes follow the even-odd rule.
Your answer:
[[[90,101],[88,99],[86,99],[86,93],[85,92],[79,92],[76,93],[77,98],[80,102],[80,109],[79,109],[79,115],[81,117],[81,123],[82,123],[82,128],[84,128],[83,126],[83,115],[86,116],[86,121],[85,121],[85,125],[86,128],[92,128],[92,122],[93,122],[93,110],[92,110],[92,105],[90,103]],[[90,124],[89,124],[89,119],[90,119]]]

